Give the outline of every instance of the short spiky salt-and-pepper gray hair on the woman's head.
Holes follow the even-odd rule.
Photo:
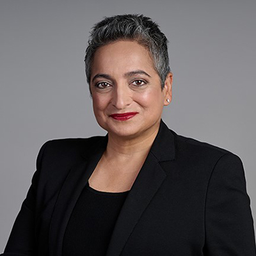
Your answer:
[[[96,50],[100,46],[117,40],[133,40],[147,47],[163,88],[166,76],[170,72],[168,39],[156,22],[138,14],[105,17],[93,26],[84,58],[87,83],[90,84],[93,56]]]

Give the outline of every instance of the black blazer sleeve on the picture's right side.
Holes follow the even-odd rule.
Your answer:
[[[212,170],[205,202],[205,255],[255,256],[250,198],[241,159],[227,153]]]

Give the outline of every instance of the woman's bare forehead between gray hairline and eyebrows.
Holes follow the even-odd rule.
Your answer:
[[[99,47],[92,62],[92,75],[124,74],[138,69],[157,74],[150,52],[136,41],[116,41]]]

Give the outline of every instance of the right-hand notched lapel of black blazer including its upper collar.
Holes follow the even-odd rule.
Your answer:
[[[161,168],[159,162],[172,161],[174,156],[173,133],[161,121],[156,140],[116,220],[106,256],[118,256],[122,253],[125,243],[140,220],[143,211],[166,178],[166,172]]]

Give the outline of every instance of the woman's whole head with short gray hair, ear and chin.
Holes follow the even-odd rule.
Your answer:
[[[172,99],[172,73],[156,23],[143,15],[102,20],[92,29],[85,63],[95,118],[109,136],[157,132]]]

